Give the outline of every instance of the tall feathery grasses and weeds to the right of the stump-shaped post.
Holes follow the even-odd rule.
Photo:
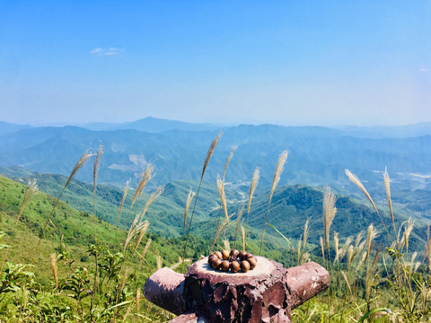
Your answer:
[[[364,185],[350,171],[353,179],[378,213],[377,206]],[[394,235],[388,237],[391,247],[375,246],[380,234],[374,224],[366,235],[347,237],[339,244],[339,233],[334,233],[330,246],[330,223],[335,215],[335,196],[325,191],[323,198],[324,236],[321,256],[331,274],[331,285],[326,295],[319,295],[293,312],[295,322],[428,322],[431,320],[431,241],[427,234],[426,253],[421,260],[409,251],[409,235],[413,222],[401,223],[396,228],[391,207],[390,179],[387,170],[383,181],[391,214]],[[383,222],[382,217],[380,220]],[[386,234],[390,235],[386,227]],[[429,231],[429,229],[428,229]],[[398,232],[398,233],[397,233]],[[335,254],[334,259],[330,255]],[[299,252],[298,252],[299,258]],[[427,263],[426,263],[427,259]]]

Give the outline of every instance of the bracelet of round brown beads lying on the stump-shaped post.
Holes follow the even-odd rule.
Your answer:
[[[240,252],[237,249],[233,249],[231,252],[223,250],[222,252],[216,251],[209,256],[208,264],[214,269],[224,272],[230,269],[233,273],[238,273],[241,269],[243,273],[247,273],[256,267],[258,258],[249,252]]]

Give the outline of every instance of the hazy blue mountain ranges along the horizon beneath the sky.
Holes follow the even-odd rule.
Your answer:
[[[170,124],[171,120],[145,119]],[[123,125],[124,126],[124,125]],[[189,124],[187,124],[189,126]],[[427,128],[427,124],[419,125]],[[124,126],[127,127],[127,126]],[[167,127],[167,126],[166,126]],[[413,127],[413,126],[412,126]],[[410,127],[411,128],[411,127]],[[31,170],[67,175],[79,156],[99,143],[104,145],[99,181],[123,188],[128,179],[136,182],[146,162],[154,164],[153,187],[177,179],[198,179],[208,145],[217,130],[170,129],[148,133],[122,129],[92,131],[82,127],[35,127],[0,135],[0,166],[19,165]],[[344,170],[355,172],[374,187],[387,166],[391,179],[409,190],[431,186],[431,136],[372,138],[346,135],[346,130],[327,127],[281,127],[240,125],[226,127],[207,168],[206,180],[216,182],[233,145],[238,149],[226,173],[235,185],[250,182],[260,168],[260,186],[267,186],[278,154],[289,150],[280,184],[330,185],[340,193],[355,192]],[[77,179],[92,179],[85,168]],[[366,186],[366,185],[365,185]],[[372,189],[372,188],[370,188]]]

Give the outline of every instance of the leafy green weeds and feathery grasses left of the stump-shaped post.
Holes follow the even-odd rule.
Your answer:
[[[96,190],[97,172],[101,162],[101,146],[96,154],[94,162],[93,180],[94,196]],[[57,197],[43,231],[40,232],[40,241],[43,239],[44,232],[48,224],[54,225],[50,221],[54,214],[59,198],[65,191],[71,179],[76,172],[80,170],[84,163],[92,156],[85,152],[72,170],[66,185]],[[151,169],[151,167],[150,167]],[[146,171],[145,184],[151,179],[151,171]],[[143,188],[141,181],[140,188]],[[26,189],[20,214],[28,204],[31,196],[36,191],[35,183],[31,183]],[[128,188],[128,186],[127,186]],[[139,188],[139,187],[138,187]],[[140,195],[141,191],[138,192]],[[117,249],[114,244],[103,245],[97,240],[97,222],[94,219],[94,241],[87,250],[90,259],[88,266],[76,265],[75,258],[71,256],[67,248],[63,234],[56,227],[60,235],[60,247],[57,253],[51,254],[47,259],[52,270],[53,284],[50,286],[41,285],[36,282],[32,265],[13,264],[6,261],[7,253],[4,256],[0,281],[0,320],[6,321],[40,321],[40,322],[70,322],[70,321],[88,321],[88,322],[110,322],[124,320],[142,320],[159,321],[172,318],[172,314],[167,314],[163,310],[157,310],[153,305],[149,305],[141,297],[139,289],[145,282],[145,274],[140,272],[145,254],[150,249],[151,239],[147,239],[145,247],[141,250],[141,241],[145,236],[148,228],[148,221],[144,219],[145,212],[154,200],[162,194],[163,188],[155,189],[145,204],[143,211],[136,213],[132,225],[128,229],[128,234],[124,242],[122,252],[115,252]],[[127,189],[123,195],[121,205],[119,205],[119,214],[124,204]],[[137,197],[138,200],[138,197]],[[136,201],[137,201],[136,200]],[[135,200],[133,202],[136,202]],[[137,205],[137,204],[136,204]],[[94,198],[94,215],[96,214],[96,205]],[[16,223],[18,223],[17,218]],[[16,223],[14,228],[16,228]],[[118,229],[117,229],[118,230]],[[0,232],[0,237],[4,234]],[[114,239],[113,242],[117,242]],[[0,249],[9,249],[10,246],[0,245]],[[163,258],[157,250],[152,251],[156,254],[157,265],[162,266]],[[139,266],[137,266],[139,263]],[[146,266],[146,265],[145,265]],[[129,269],[131,267],[132,269]],[[136,269],[139,270],[136,270]],[[65,278],[60,278],[59,273],[66,273]],[[13,307],[11,306],[13,304]],[[139,310],[141,307],[141,310]],[[145,309],[146,310],[143,310]],[[145,313],[145,314],[143,314]]]

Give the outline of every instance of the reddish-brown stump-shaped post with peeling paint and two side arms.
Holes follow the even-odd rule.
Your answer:
[[[290,322],[290,311],[330,285],[330,275],[310,262],[285,269],[268,258],[247,273],[221,272],[207,258],[186,275],[163,268],[148,278],[144,295],[179,315],[171,322]]]

